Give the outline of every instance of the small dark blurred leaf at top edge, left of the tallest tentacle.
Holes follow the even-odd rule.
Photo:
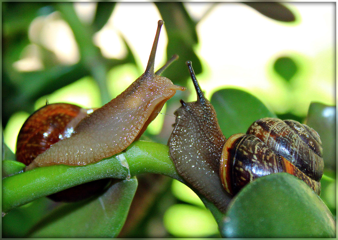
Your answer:
[[[93,32],[99,31],[108,21],[116,2],[98,2],[96,12],[92,23]]]

